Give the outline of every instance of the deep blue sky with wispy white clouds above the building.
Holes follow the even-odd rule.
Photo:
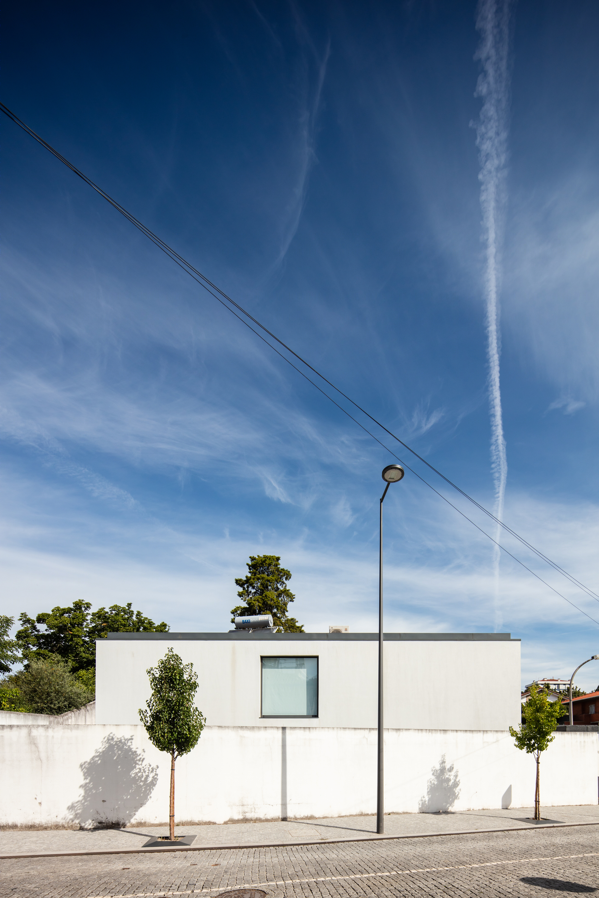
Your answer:
[[[16,5],[3,101],[493,508],[476,15]],[[597,34],[594,3],[511,8],[498,276],[504,517],[599,592]],[[375,629],[392,455],[1,125],[5,612],[131,601],[172,629],[228,629],[234,577],[269,552],[306,629]],[[492,544],[410,472],[384,515],[386,629],[509,630],[524,682],[599,651],[599,627],[506,556],[496,594]],[[595,687],[599,665],[577,681]]]

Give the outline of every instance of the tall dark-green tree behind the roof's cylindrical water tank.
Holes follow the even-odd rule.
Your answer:
[[[287,588],[291,572],[281,568],[280,560],[280,555],[250,556],[249,573],[235,580],[235,585],[240,587],[237,595],[244,604],[231,609],[232,622],[244,615],[272,614],[273,624],[285,633],[304,632],[295,618],[287,617],[287,605],[295,601],[295,595]]]

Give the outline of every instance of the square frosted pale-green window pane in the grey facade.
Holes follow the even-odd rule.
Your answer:
[[[262,716],[318,715],[318,658],[262,658]]]

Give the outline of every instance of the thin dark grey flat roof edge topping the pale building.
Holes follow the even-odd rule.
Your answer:
[[[269,642],[376,642],[378,633],[270,633],[236,629],[228,633],[109,633],[109,639],[154,639],[161,642],[260,639]],[[385,642],[520,642],[511,633],[385,633]],[[96,640],[100,642],[101,640]]]

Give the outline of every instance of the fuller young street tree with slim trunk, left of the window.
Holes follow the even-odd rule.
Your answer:
[[[198,744],[206,718],[193,703],[198,689],[198,674],[193,665],[184,665],[180,656],[169,648],[157,667],[145,672],[152,695],[139,709],[145,732],[159,752],[171,755],[171,801],[169,805],[169,838],[175,838],[175,761]]]

